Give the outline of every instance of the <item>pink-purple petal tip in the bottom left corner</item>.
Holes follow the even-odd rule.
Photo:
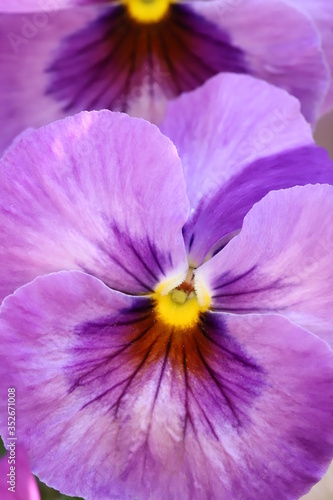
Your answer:
[[[9,410],[6,413],[8,414]],[[1,500],[13,498],[15,500],[40,500],[37,483],[30,471],[24,448],[18,445],[16,439],[7,439],[6,445],[9,446],[10,451],[0,460]]]

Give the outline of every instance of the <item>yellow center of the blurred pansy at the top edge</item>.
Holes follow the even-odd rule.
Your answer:
[[[139,23],[157,23],[168,13],[170,0],[122,0],[130,16]]]

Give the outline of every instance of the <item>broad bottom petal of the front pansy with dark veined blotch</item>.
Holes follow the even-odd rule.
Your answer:
[[[333,453],[327,344],[278,315],[208,313],[192,351],[177,332],[160,350],[149,302],[79,272],[6,298],[0,385],[38,476],[87,500],[308,491]]]

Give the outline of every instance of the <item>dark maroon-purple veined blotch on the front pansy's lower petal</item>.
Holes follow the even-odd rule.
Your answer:
[[[154,377],[153,416],[168,365],[183,394],[184,437],[191,428],[199,441],[198,422],[215,439],[221,422],[246,426],[248,410],[265,385],[261,367],[215,315],[204,314],[197,326],[175,331],[155,316],[150,299],[146,304],[77,327],[66,372],[69,391],[80,391],[85,401],[82,409],[102,405],[111,420],[130,414],[126,398],[138,397]]]

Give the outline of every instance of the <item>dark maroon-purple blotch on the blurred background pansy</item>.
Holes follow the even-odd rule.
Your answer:
[[[247,73],[229,35],[189,6],[173,4],[164,20],[139,24],[122,5],[63,40],[47,72],[47,93],[66,112],[127,111],[137,89],[154,84],[171,98],[220,72]]]

